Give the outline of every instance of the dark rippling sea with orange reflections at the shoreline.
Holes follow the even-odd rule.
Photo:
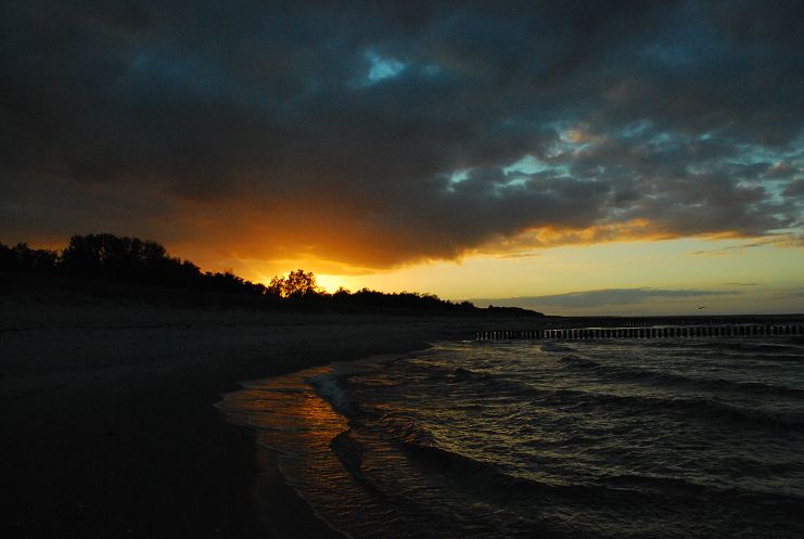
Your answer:
[[[220,410],[360,538],[804,537],[804,337],[442,342]]]

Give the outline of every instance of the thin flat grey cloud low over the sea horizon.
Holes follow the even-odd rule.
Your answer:
[[[604,288],[548,296],[473,299],[477,305],[505,305],[524,308],[544,307],[604,307],[636,305],[661,299],[695,299],[704,296],[735,295],[737,292],[706,290]]]

